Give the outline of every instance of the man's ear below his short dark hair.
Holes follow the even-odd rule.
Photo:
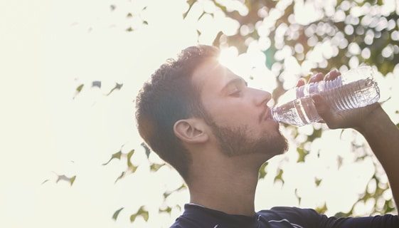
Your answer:
[[[174,123],[174,133],[183,142],[198,143],[208,140],[203,121],[190,118]]]

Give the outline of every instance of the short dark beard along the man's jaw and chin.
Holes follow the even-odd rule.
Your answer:
[[[266,160],[269,160],[288,149],[287,139],[279,130],[267,131],[260,138],[248,138],[245,134],[248,133],[248,126],[228,128],[218,126],[214,121],[211,121],[210,125],[220,150],[228,157],[261,153],[267,155]]]

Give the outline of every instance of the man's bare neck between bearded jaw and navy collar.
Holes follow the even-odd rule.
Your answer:
[[[201,164],[201,168],[194,167],[192,181],[188,184],[190,202],[227,214],[253,216],[260,165],[248,163],[242,157],[236,157],[228,162],[208,160]]]

